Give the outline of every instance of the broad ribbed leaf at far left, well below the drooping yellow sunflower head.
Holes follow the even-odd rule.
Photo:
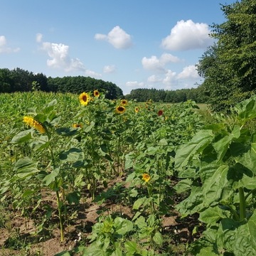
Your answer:
[[[37,162],[29,159],[28,157],[19,159],[14,166],[16,176],[18,176],[18,178],[26,178],[38,173],[39,170],[37,169],[37,164]]]

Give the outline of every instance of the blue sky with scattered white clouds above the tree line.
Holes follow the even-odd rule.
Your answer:
[[[209,25],[235,0],[0,0],[0,68],[136,88],[201,83]]]

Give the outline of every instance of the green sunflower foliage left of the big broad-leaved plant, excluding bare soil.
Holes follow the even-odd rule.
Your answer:
[[[87,198],[99,205],[118,198],[132,216],[102,210],[80,251],[103,253],[109,245],[105,255],[168,255],[162,219],[173,211],[175,151],[202,126],[195,102],[138,103],[88,92],[80,105],[78,95],[37,90],[0,100],[1,203],[33,220],[38,240],[56,228],[60,241],[68,239]],[[112,185],[119,178],[124,191]]]

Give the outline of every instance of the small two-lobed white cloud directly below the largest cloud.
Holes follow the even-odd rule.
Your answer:
[[[142,58],[142,65],[146,70],[166,72],[164,66],[167,63],[177,63],[178,61],[180,61],[178,57],[171,55],[170,53],[164,53],[160,58],[157,58],[155,55],[152,55],[150,58]]]

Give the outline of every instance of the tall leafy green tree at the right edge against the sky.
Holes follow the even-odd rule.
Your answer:
[[[213,24],[210,46],[198,63],[203,90],[213,110],[226,110],[256,87],[256,1],[221,5],[226,21]]]

